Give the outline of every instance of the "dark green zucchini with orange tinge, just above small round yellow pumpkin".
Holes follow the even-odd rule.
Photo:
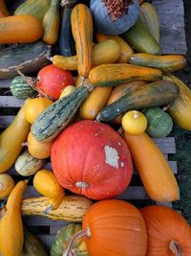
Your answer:
[[[97,121],[112,121],[127,110],[168,105],[179,95],[179,87],[174,82],[154,81],[138,87],[101,109]]]

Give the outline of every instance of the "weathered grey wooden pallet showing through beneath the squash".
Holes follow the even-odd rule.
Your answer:
[[[21,0],[23,2],[23,0]],[[181,0],[154,0],[152,1],[154,6],[157,8],[160,17],[160,44],[162,46],[163,54],[182,54],[186,53],[186,43],[184,35],[184,24],[183,24],[183,3]],[[0,129],[7,128],[15,113],[19,107],[23,105],[23,101],[19,101],[11,96],[11,94],[4,94],[5,91],[10,90],[11,80],[0,80]],[[1,114],[3,108],[4,114]],[[163,152],[166,159],[169,158],[169,154],[176,152],[175,139],[173,137],[167,137],[163,139],[155,139],[155,142],[159,146],[159,149]],[[177,162],[168,161],[174,174],[177,174]],[[45,168],[52,169],[51,163],[48,162]],[[9,174],[14,176],[16,174],[14,167],[11,167]],[[125,199],[130,201],[141,201],[148,202],[149,197],[147,196],[141,182],[139,181],[138,174],[134,172],[133,182],[127,190],[118,196],[119,199]],[[136,181],[135,181],[136,180]],[[25,198],[38,196],[38,193],[33,189],[32,185],[28,186],[28,189],[24,195]],[[154,202],[155,203],[155,202]],[[158,202],[156,202],[158,203]],[[172,203],[167,203],[168,206],[172,206]],[[23,221],[31,227],[36,236],[49,248],[53,242],[53,237],[61,226],[67,224],[66,221],[51,221],[44,217],[24,217]]]

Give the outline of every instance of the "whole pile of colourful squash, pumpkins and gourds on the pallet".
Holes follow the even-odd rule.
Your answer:
[[[1,255],[48,255],[23,225],[32,215],[72,222],[52,256],[191,255],[179,213],[116,199],[134,166],[151,199],[180,197],[152,138],[174,123],[191,130],[191,90],[172,74],[185,58],[162,55],[154,6],[27,0],[9,13],[0,1],[0,44],[0,79],[11,78],[24,103],[0,134]],[[50,159],[53,171],[44,167]],[[41,197],[24,198],[31,177]]]

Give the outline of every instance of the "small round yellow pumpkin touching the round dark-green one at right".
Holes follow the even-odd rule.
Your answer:
[[[122,128],[129,134],[138,135],[147,127],[146,117],[137,110],[128,111],[122,118]]]

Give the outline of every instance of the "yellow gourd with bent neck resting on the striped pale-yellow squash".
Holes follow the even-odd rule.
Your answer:
[[[62,202],[65,193],[52,171],[43,169],[33,177],[33,187],[43,196],[49,198],[48,210],[55,210]]]

